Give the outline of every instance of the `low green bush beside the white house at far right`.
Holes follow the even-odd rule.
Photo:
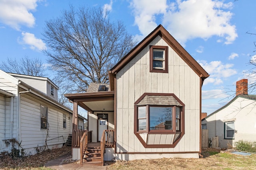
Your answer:
[[[234,143],[235,149],[244,152],[256,152],[256,142],[250,141],[237,141]]]

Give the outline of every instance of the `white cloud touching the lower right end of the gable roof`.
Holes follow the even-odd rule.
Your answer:
[[[212,61],[210,63],[198,61],[198,63],[210,74],[210,77],[204,80],[204,84],[222,84],[222,78],[227,78],[237,73],[237,71],[232,68],[234,64],[223,64],[221,61]]]

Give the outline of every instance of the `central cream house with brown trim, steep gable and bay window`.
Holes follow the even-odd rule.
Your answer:
[[[88,111],[92,142],[107,143],[104,160],[199,158],[201,88],[209,74],[162,25],[108,73],[108,85],[64,95],[74,112]],[[73,146],[73,158],[79,150]],[[76,155],[89,162],[88,152]]]

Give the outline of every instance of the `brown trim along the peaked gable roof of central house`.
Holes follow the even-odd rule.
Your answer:
[[[200,66],[199,63],[170,35],[170,33],[162,26],[158,25],[146,38],[144,38],[134,49],[132,49],[125,57],[123,57],[111,70],[111,73],[116,74],[126,64],[128,64],[142,49],[144,49],[155,37],[162,37],[174,51],[202,78],[203,80],[209,74]]]

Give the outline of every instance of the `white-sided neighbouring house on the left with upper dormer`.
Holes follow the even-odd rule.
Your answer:
[[[72,133],[72,110],[58,103],[58,87],[48,78],[0,70],[0,152],[15,139],[26,155],[62,147]],[[79,116],[83,129],[84,117]]]

